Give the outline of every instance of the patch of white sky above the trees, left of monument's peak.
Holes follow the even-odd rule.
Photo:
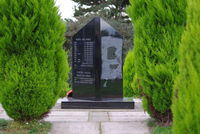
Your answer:
[[[56,6],[59,8],[59,13],[62,17],[62,19],[70,18],[73,19],[73,13],[74,13],[74,6],[76,3],[74,3],[72,0],[55,0]]]

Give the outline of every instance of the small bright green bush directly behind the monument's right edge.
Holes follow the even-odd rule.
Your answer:
[[[138,78],[134,69],[134,51],[130,50],[123,67],[123,94],[125,97],[140,97],[142,90],[138,87]]]

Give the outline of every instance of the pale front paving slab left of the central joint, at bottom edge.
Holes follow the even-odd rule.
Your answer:
[[[50,134],[100,134],[100,125],[95,122],[53,123]]]

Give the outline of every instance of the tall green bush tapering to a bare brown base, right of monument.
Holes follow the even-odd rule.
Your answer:
[[[144,109],[157,121],[171,121],[171,96],[178,73],[177,52],[185,25],[185,0],[130,0],[135,28],[135,71]]]

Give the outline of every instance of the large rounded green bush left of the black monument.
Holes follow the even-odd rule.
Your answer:
[[[54,0],[1,0],[0,6],[2,106],[14,120],[39,119],[68,86],[64,23]]]

